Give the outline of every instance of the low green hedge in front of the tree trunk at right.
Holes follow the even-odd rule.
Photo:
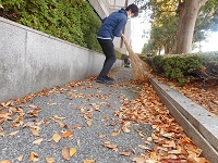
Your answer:
[[[218,80],[218,52],[143,58],[153,72],[183,86],[191,80]]]

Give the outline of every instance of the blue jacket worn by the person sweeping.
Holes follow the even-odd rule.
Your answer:
[[[128,13],[124,9],[111,13],[102,20],[97,37],[101,39],[111,39],[122,36],[122,29],[128,22]]]

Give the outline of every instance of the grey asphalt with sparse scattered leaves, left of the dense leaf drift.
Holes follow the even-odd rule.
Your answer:
[[[17,158],[23,156],[20,158],[23,163],[34,159],[46,163],[46,158],[52,158],[57,163],[83,163],[87,159],[96,163],[131,163],[131,158],[145,153],[138,148],[145,140],[137,130],[142,129],[148,137],[152,134],[150,125],[131,125],[130,133],[121,130],[117,136],[111,136],[121,127],[114,113],[123,102],[135,99],[140,91],[140,86],[130,84],[130,68],[123,67],[112,77],[116,79],[113,86],[86,79],[56,87],[46,96],[37,96],[7,109],[12,110],[12,120],[0,124],[0,162],[10,160],[20,163]],[[33,128],[37,134],[32,131]],[[14,134],[16,130],[19,133]],[[61,137],[58,142],[53,140],[55,134],[62,135],[68,130],[73,133]],[[41,139],[38,145],[33,143],[38,139]],[[76,149],[69,161],[62,155],[65,147]],[[126,150],[131,151],[130,155],[121,154]],[[36,155],[31,156],[32,152]]]

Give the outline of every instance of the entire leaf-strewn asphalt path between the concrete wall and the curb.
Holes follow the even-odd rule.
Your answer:
[[[1,103],[0,163],[206,162],[152,86],[130,68],[112,77],[112,86],[90,77]]]

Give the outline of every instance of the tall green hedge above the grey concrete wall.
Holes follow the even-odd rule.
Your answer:
[[[0,0],[0,16],[101,52],[101,23],[87,0]]]

